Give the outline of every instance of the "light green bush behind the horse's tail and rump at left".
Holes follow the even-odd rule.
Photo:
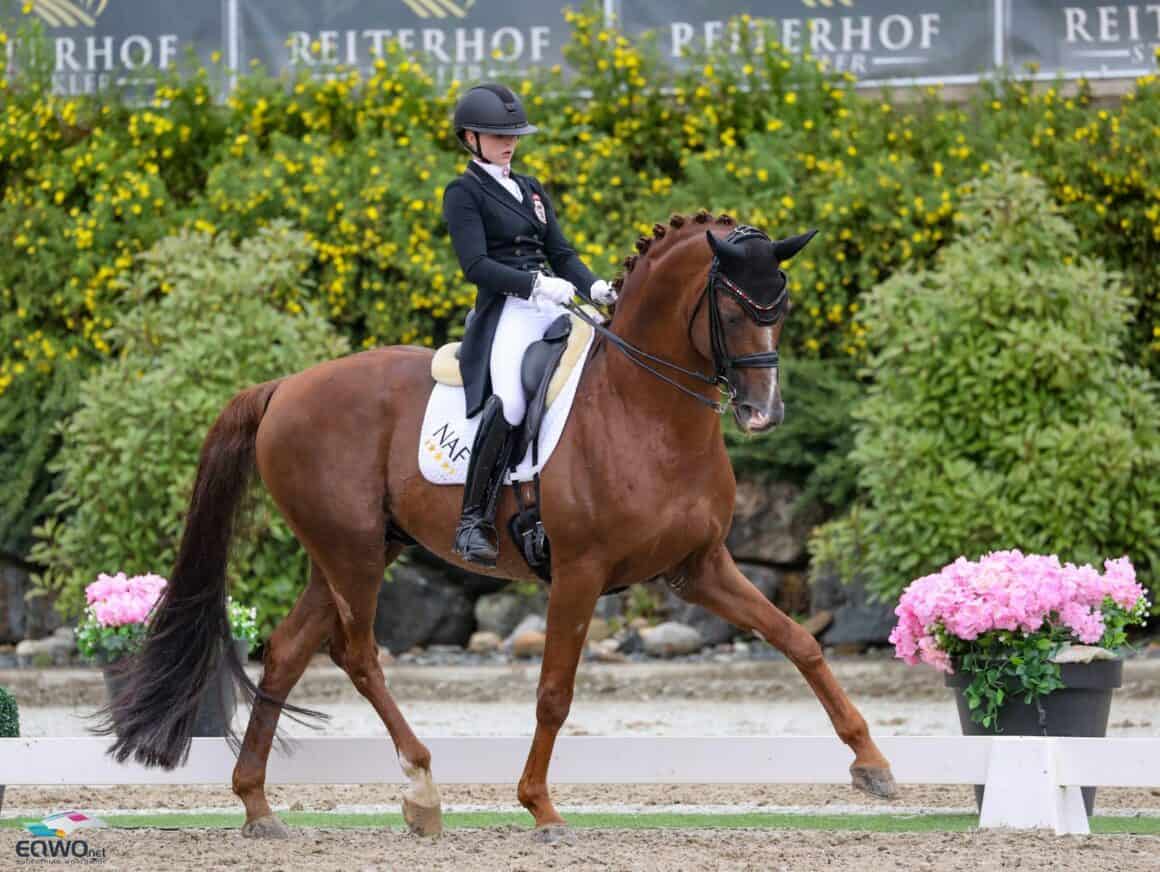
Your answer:
[[[302,233],[260,231],[240,246],[184,234],[139,257],[110,335],[123,349],[79,390],[51,470],[51,516],[31,557],[36,584],[80,611],[97,573],[166,575],[179,544],[202,441],[239,390],[347,350],[313,313]],[[274,305],[300,310],[299,314]],[[266,499],[231,561],[233,595],[263,632],[305,580],[297,542]]]

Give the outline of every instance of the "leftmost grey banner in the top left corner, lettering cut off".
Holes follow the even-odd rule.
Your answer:
[[[226,2],[202,0],[0,0],[12,32],[43,28],[58,94],[93,94],[145,85],[180,66],[188,51],[209,64],[226,45]],[[8,43],[8,63],[19,51]]]

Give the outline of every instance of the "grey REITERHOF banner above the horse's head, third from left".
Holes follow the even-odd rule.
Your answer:
[[[791,52],[809,52],[860,80],[974,79],[996,66],[992,0],[619,0],[628,34],[654,31],[664,57],[735,39],[728,21],[753,27]]]

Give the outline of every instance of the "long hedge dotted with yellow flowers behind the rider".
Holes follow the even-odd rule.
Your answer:
[[[590,9],[568,19],[573,72],[510,81],[542,131],[516,161],[548,186],[597,275],[611,278],[674,211],[727,211],[776,235],[818,227],[790,270],[783,348],[860,361],[862,296],[900,268],[930,266],[958,232],[972,180],[1013,155],[1078,228],[1074,256],[1125,274],[1138,297],[1132,355],[1160,372],[1155,77],[1103,107],[1082,82],[1065,94],[1002,81],[966,104],[936,88],[870,97],[748,26],[737,52],[724,38],[674,70]],[[213,88],[222,78],[165,79],[151,100],[129,102],[0,77],[0,395],[21,379],[50,384],[61,359],[84,368],[117,355],[124,276],[183,230],[241,240],[276,219],[297,226],[311,282],[273,305],[314,304],[354,347],[462,332],[474,289],[441,199],[467,158],[450,126],[467,83],[438,87],[393,45],[369,77],[254,71],[229,95]],[[19,465],[6,453],[15,444],[0,431],[5,465]]]

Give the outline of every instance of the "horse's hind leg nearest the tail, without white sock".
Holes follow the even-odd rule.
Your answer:
[[[290,696],[311,656],[334,626],[334,613],[326,579],[318,565],[312,564],[310,583],[270,635],[259,684],[264,693],[282,702]],[[282,707],[276,703],[255,699],[249,714],[249,726],[233,769],[233,792],[246,806],[244,836],[285,838],[289,835],[266,800],[266,762],[281,713]]]

